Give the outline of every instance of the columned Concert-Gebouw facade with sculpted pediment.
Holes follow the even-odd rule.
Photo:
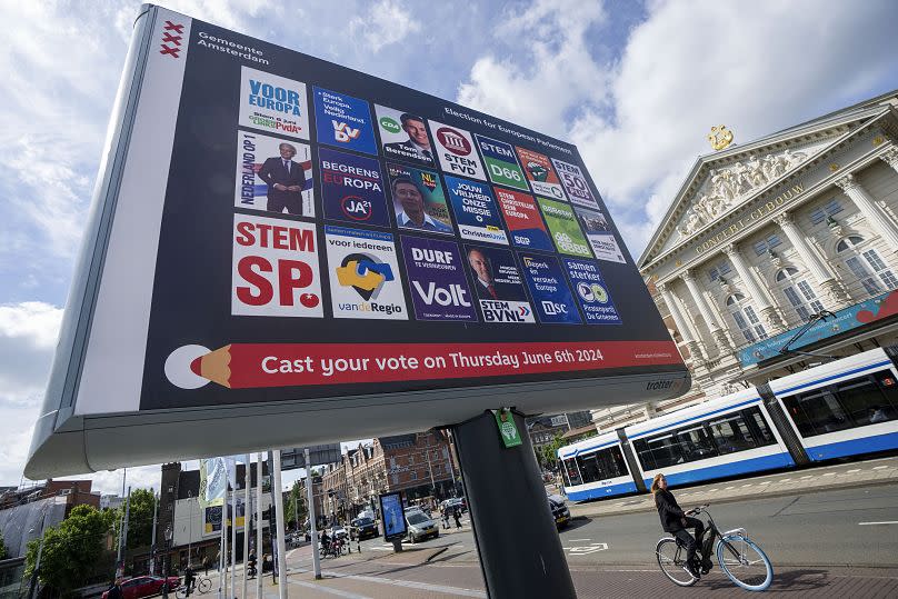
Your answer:
[[[638,266],[694,387],[600,430],[895,343],[898,91],[698,159]]]

